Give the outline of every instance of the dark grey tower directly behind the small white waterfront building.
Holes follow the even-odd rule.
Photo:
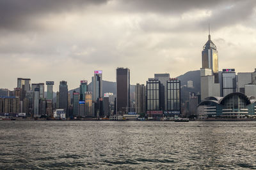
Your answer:
[[[68,85],[67,81],[60,81],[59,108],[64,109],[68,118]]]

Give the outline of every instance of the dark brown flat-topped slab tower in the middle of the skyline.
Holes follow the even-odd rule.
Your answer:
[[[116,69],[116,112],[124,115],[130,109],[130,69]]]

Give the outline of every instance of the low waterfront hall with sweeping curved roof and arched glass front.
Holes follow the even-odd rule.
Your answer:
[[[233,118],[255,115],[255,101],[255,97],[246,96],[240,92],[234,92],[225,97],[207,97],[205,101],[198,104],[198,115]]]

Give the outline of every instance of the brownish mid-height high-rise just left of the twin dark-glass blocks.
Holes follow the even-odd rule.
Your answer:
[[[135,112],[145,113],[145,97],[146,97],[146,87],[145,85],[136,84],[135,89]]]

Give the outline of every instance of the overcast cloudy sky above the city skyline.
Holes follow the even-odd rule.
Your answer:
[[[93,70],[115,81],[129,67],[131,83],[154,73],[171,77],[200,69],[211,25],[219,69],[256,67],[256,1],[0,0],[0,88],[17,77],[61,80],[68,89],[92,81]]]

